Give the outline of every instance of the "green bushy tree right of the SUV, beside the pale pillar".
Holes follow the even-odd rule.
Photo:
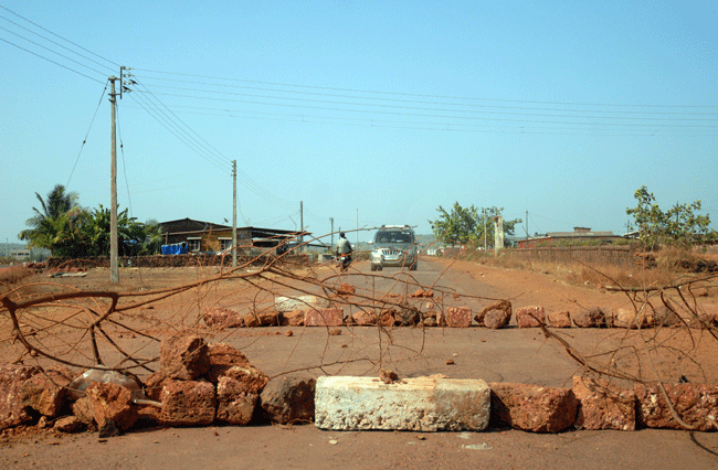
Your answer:
[[[462,207],[458,202],[454,203],[451,212],[441,205],[436,210],[439,218],[429,221],[434,236],[447,245],[484,245],[494,246],[494,217],[500,215],[504,207],[477,209],[472,204],[469,207]],[[504,233],[514,235],[517,224],[521,220],[504,221]]]

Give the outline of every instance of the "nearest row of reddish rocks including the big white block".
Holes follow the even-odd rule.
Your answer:
[[[270,380],[241,351],[207,344],[194,334],[161,343],[160,370],[140,383],[114,371],[81,375],[57,366],[0,365],[0,430],[53,427],[98,430],[101,437],[138,426],[247,426],[316,423],[325,429],[483,430],[530,432],[570,429],[716,430],[718,385],[619,387],[573,377],[571,388],[451,380],[279,376]]]

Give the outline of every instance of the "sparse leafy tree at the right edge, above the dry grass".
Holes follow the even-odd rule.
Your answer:
[[[661,245],[687,248],[716,238],[716,231],[709,228],[710,216],[695,214],[700,211],[700,201],[676,204],[664,212],[645,185],[637,189],[633,196],[637,205],[626,209],[626,214],[633,215],[641,241],[647,249]]]

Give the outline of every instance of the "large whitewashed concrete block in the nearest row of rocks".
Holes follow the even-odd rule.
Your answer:
[[[490,389],[481,380],[405,378],[384,384],[373,377],[317,380],[315,423],[321,429],[484,430]]]

